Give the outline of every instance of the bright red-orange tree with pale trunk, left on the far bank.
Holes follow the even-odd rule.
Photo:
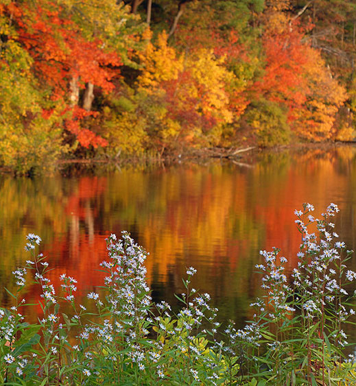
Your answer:
[[[41,1],[36,8],[22,4],[21,8],[12,3],[16,12],[19,42],[34,60],[34,73],[43,85],[50,88],[50,99],[62,100],[64,110],[73,110],[68,116],[66,128],[74,134],[80,144],[106,145],[103,138],[81,128],[79,119],[85,113],[78,109],[80,90],[86,83],[111,91],[110,80],[117,71],[121,60],[117,53],[102,49],[99,39],[88,41],[80,27],[64,14],[64,9],[56,3]],[[58,103],[58,102],[57,102]]]

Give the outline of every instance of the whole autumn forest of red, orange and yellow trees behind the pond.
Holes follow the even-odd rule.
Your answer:
[[[0,0],[0,166],[353,141],[354,0]]]

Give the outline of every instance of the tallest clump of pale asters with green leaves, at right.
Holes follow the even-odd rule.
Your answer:
[[[335,241],[331,217],[337,206],[329,205],[322,219],[314,218],[313,210],[305,204],[295,212],[302,243],[291,278],[278,249],[261,251],[264,263],[257,268],[264,294],[252,304],[253,321],[237,332],[247,373],[265,385],[340,385],[346,379],[356,384],[355,365],[342,363],[348,346],[343,326],[355,314],[349,304],[355,294],[346,291],[356,278],[345,265],[352,251]],[[309,232],[312,225],[318,236]],[[348,362],[354,361],[351,355]]]

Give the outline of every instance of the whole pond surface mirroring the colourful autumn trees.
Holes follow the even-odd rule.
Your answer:
[[[102,276],[104,239],[128,230],[150,256],[148,282],[154,298],[176,302],[185,268],[198,269],[193,285],[211,294],[220,319],[239,324],[259,291],[254,265],[259,250],[278,246],[296,265],[300,234],[294,209],[303,202],[321,213],[338,204],[336,231],[356,244],[356,148],[261,154],[251,165],[210,160],[169,167],[82,171],[71,176],[0,176],[0,279],[14,289],[12,270],[29,256],[29,232],[43,239],[58,285],[64,272],[78,279],[85,295]],[[350,261],[356,269],[356,260]],[[30,288],[27,296],[36,293]],[[10,298],[1,289],[2,304]]]

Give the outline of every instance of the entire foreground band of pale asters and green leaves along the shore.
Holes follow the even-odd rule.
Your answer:
[[[255,310],[252,321],[244,328],[230,322],[224,331],[210,295],[191,288],[193,267],[187,268],[185,289],[176,295],[180,311],[175,313],[165,301],[152,302],[145,280],[147,252],[127,232],[119,240],[114,234],[107,239],[105,286],[88,293],[79,306],[75,278],[62,274],[62,295],[57,295],[46,276],[49,264],[42,254],[35,254],[40,237],[29,234],[25,249],[32,258],[13,272],[16,304],[0,309],[0,381],[285,385],[297,378],[310,385],[314,378],[320,384],[331,384],[332,379],[354,384],[353,355],[345,363],[340,357],[340,348],[348,345],[342,327],[355,315],[346,287],[356,280],[345,264],[351,251],[336,241],[330,217],[338,212],[337,206],[328,206],[322,219],[311,215],[313,210],[305,204],[295,212],[302,235],[298,266],[291,267],[277,248],[261,251],[263,261],[256,267],[262,274],[263,295],[250,304]],[[309,232],[311,227],[318,233]],[[19,313],[25,303],[19,293],[28,272],[42,290],[43,318],[38,325],[24,323]],[[63,304],[72,315],[60,313]]]

